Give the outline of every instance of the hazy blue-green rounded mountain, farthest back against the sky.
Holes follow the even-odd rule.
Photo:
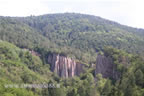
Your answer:
[[[144,30],[135,29],[100,17],[65,13],[19,18],[59,46],[80,50],[103,50],[113,46],[130,52],[143,50]],[[130,49],[130,50],[129,50]]]

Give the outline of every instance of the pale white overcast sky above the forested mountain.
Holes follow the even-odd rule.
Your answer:
[[[144,28],[144,0],[0,0],[0,16],[74,12]]]

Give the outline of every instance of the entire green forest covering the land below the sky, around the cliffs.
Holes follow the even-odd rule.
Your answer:
[[[84,69],[61,77],[50,56],[52,64],[67,60],[60,65]],[[100,64],[109,66],[97,74]],[[24,84],[60,88],[19,88]],[[77,13],[1,16],[0,96],[144,96],[144,29]]]

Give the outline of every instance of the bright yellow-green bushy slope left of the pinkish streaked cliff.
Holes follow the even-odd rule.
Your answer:
[[[0,41],[0,75],[10,84],[41,83],[49,81],[49,67],[43,66],[39,57],[8,42]],[[48,74],[48,75],[47,75]],[[0,79],[1,80],[1,79]],[[1,87],[7,82],[1,82]],[[37,96],[31,90],[0,88],[2,96]]]

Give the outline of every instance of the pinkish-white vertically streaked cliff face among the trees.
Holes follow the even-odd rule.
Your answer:
[[[73,77],[83,72],[83,64],[59,54],[50,54],[48,56],[48,63],[51,66],[51,71],[60,77]]]

